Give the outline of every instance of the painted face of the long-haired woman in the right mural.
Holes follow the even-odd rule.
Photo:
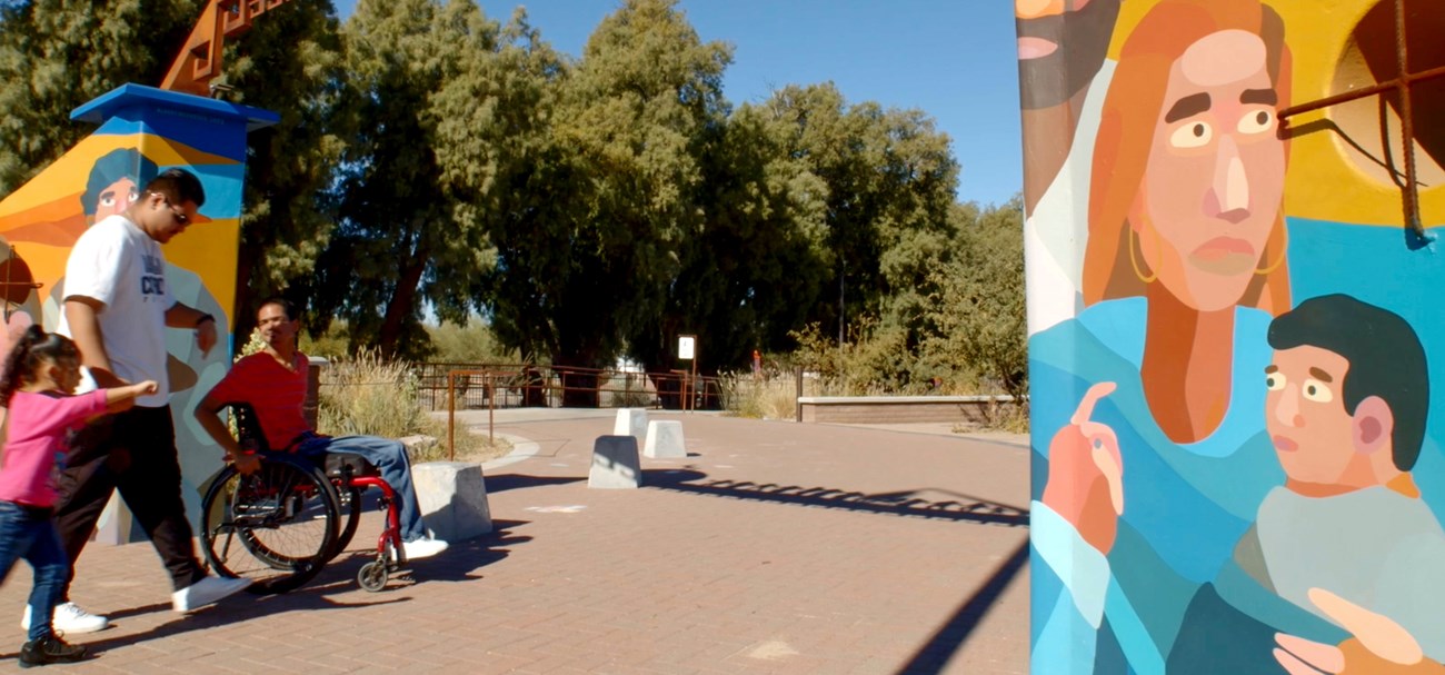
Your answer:
[[[1237,304],[1267,265],[1285,146],[1266,56],[1257,35],[1221,30],[1175,61],[1130,215],[1159,283],[1201,311]]]

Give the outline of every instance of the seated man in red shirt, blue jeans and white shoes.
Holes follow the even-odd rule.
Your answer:
[[[306,399],[309,360],[296,348],[299,321],[295,306],[282,298],[262,302],[256,317],[266,348],[247,356],[218,382],[195,409],[195,418],[223,450],[225,461],[241,473],[260,468],[260,460],[241,450],[218,413],[228,405],[246,403],[260,422],[266,444],[321,460],[328,452],[360,455],[377,467],[400,506],[402,552],[406,559],[436,555],[447,542],[434,539],[422,525],[422,512],[412,487],[412,464],[400,441],[380,437],[327,437],[316,434],[302,413]]]

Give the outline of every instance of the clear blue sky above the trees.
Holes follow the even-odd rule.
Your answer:
[[[618,0],[480,0],[506,22],[525,4],[552,46],[578,55]],[[355,0],[335,0],[350,16]],[[682,0],[704,40],[730,42],[724,95],[757,103],[832,81],[848,103],[920,108],[954,142],[958,198],[998,204],[1023,186],[1019,71],[1009,0]]]

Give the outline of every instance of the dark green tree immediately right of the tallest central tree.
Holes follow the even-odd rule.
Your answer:
[[[681,241],[679,270],[652,334],[630,343],[650,371],[675,367],[678,334],[699,337],[705,373],[740,367],[753,350],[793,348],[790,332],[827,291],[829,269],[827,186],[789,155],[788,134],[785,121],[743,106],[707,145],[701,231]]]

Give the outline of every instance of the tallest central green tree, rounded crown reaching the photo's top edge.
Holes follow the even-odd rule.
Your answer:
[[[662,311],[679,243],[701,228],[698,158],[725,119],[730,61],[675,0],[627,0],[592,32],[561,79],[540,165],[512,176],[538,192],[509,214],[533,227],[526,240],[496,240],[499,266],[522,275],[497,286],[507,344],[555,367],[605,367]],[[585,389],[585,377],[569,382]],[[574,390],[568,403],[595,395]]]

